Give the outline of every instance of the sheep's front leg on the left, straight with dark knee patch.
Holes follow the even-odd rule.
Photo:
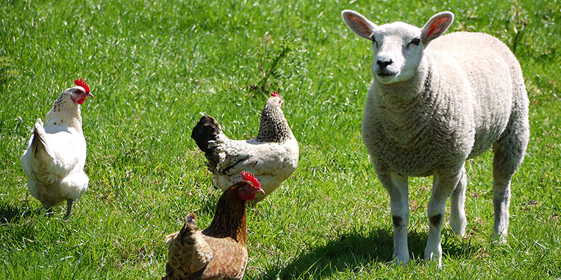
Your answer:
[[[390,195],[391,220],[393,222],[393,262],[405,265],[409,262],[407,247],[407,223],[409,223],[409,190],[407,177],[395,172],[378,174],[378,179]]]

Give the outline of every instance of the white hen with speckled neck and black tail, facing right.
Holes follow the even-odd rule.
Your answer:
[[[205,153],[208,170],[222,191],[241,181],[241,171],[255,174],[265,192],[258,193],[255,202],[276,190],[298,165],[298,142],[288,126],[278,92],[271,94],[263,108],[256,138],[231,140],[211,116],[198,121],[191,138]]]

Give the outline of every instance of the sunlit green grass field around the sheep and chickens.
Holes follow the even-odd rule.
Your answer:
[[[105,3],[112,2],[112,3]],[[344,25],[484,31],[520,59],[532,138],[513,179],[508,244],[493,244],[492,154],[469,160],[467,235],[442,231],[442,269],[421,263],[431,178],[410,179],[405,267],[388,195],[360,138],[372,52]],[[205,228],[219,192],[189,136],[201,113],[227,135],[257,134],[271,90],[299,140],[299,167],[248,209],[245,279],[557,279],[561,277],[561,2],[11,1],[0,3],[0,278],[159,279],[166,234],[189,211]],[[75,78],[90,186],[63,219],[44,218],[19,164],[36,118]]]

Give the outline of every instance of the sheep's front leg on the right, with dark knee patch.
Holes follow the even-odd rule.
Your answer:
[[[456,174],[434,174],[433,192],[428,202],[428,239],[426,241],[425,259],[442,264],[442,246],[440,245],[442,225],[446,210],[446,200],[457,186],[463,172]]]

